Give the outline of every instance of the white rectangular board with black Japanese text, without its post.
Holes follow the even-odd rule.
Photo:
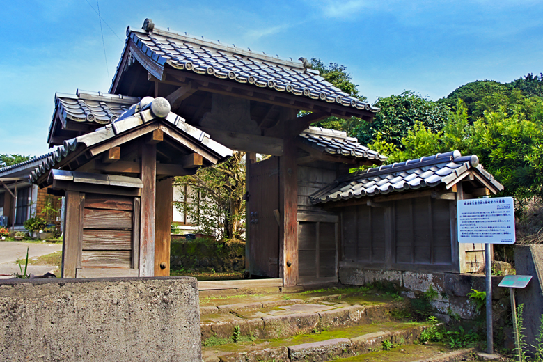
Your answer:
[[[457,204],[458,242],[514,243],[513,198],[475,198]]]

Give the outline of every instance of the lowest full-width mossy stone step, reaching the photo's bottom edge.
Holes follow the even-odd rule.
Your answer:
[[[322,334],[309,334],[283,340],[203,347],[203,361],[335,361],[381,349],[384,341],[394,346],[414,343],[426,327],[427,324],[420,323],[388,322],[385,326],[374,324],[363,327],[344,327],[335,331],[322,332]],[[363,333],[364,329],[370,333]],[[334,335],[340,338],[326,339],[326,336]],[[311,339],[315,342],[297,343]]]

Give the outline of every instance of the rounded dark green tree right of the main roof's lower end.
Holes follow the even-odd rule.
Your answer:
[[[413,91],[379,98],[375,106],[381,111],[373,123],[361,123],[356,127],[356,138],[362,144],[372,143],[379,132],[381,141],[393,143],[399,150],[405,150],[402,139],[417,122],[431,132],[438,132],[449,113],[446,105],[426,100]]]

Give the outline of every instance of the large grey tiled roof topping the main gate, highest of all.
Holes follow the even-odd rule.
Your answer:
[[[168,64],[180,70],[253,84],[255,87],[288,92],[313,100],[374,113],[379,111],[379,108],[372,107],[368,102],[336,88],[320,77],[317,70],[304,68],[304,58],[301,61],[292,61],[292,58],[284,60],[264,52],[252,52],[250,49],[157,28],[149,32],[128,28],[127,36],[141,52],[161,67]]]

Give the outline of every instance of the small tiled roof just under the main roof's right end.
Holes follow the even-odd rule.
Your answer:
[[[330,155],[371,159],[377,162],[386,160],[386,156],[379,155],[379,152],[361,145],[358,139],[347,137],[347,132],[321,127],[309,127],[304,132],[301,132],[299,138],[306,145],[315,148],[315,150],[326,152]]]

